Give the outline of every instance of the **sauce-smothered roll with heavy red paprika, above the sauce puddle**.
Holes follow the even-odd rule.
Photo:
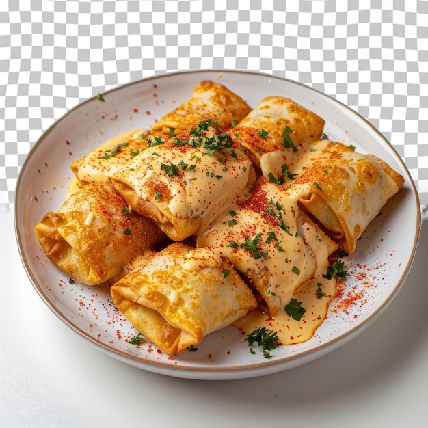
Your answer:
[[[319,269],[327,272],[338,248],[302,215],[300,196],[299,188],[261,177],[248,200],[226,209],[196,236],[198,248],[215,248],[248,278],[272,316]]]

